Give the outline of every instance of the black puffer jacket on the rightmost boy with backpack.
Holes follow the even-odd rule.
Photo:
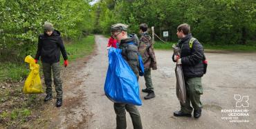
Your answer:
[[[203,76],[203,46],[198,40],[193,42],[192,48],[189,46],[191,34],[181,39],[178,47],[181,48],[181,65],[185,77],[202,77]],[[174,55],[172,55],[174,61]],[[175,61],[174,61],[175,62]]]

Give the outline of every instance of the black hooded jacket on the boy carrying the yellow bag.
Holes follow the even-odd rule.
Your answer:
[[[35,59],[38,60],[41,56],[41,60],[44,63],[56,63],[60,61],[60,51],[63,59],[68,59],[59,31],[54,30],[51,36],[48,36],[45,32],[39,35]]]

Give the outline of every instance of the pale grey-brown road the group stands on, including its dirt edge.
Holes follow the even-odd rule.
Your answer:
[[[83,61],[73,72],[69,72],[64,81],[64,105],[52,111],[51,124],[48,128],[115,128],[116,115],[113,102],[104,95],[104,81],[107,72],[107,38],[95,36],[97,48],[95,54],[84,65]],[[140,92],[143,106],[139,106],[143,128],[253,128],[256,120],[256,54],[255,53],[208,53],[208,73],[203,77],[202,116],[174,117],[179,110],[176,98],[175,64],[171,50],[156,50],[158,70],[152,71],[156,98],[145,100]],[[80,64],[80,65],[79,65]],[[81,65],[83,64],[83,65]],[[145,88],[145,81],[140,77],[140,89]],[[241,103],[248,107],[236,107],[234,95],[244,97]],[[54,106],[54,105],[53,105]],[[239,103],[238,103],[239,106]],[[245,115],[238,119],[248,122],[232,123],[227,110],[243,109]],[[223,112],[221,112],[223,110]],[[246,114],[246,112],[248,114]],[[243,114],[243,115],[244,115]],[[237,115],[237,114],[235,114]],[[127,113],[127,126],[132,128]]]

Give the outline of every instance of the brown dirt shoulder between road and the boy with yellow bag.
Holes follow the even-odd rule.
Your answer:
[[[44,118],[44,122],[40,119],[33,122],[33,127],[37,126],[38,128],[77,128],[80,127],[81,124],[84,125],[91,118],[91,112],[88,112],[86,106],[78,109],[81,106],[82,101],[85,101],[86,95],[84,92],[81,92],[79,89],[83,79],[89,75],[77,75],[80,72],[81,68],[86,66],[86,63],[92,57],[96,55],[96,45],[94,50],[89,56],[76,59],[73,61],[66,70],[62,72],[62,80],[63,80],[63,90],[64,90],[64,98],[63,105],[61,108],[55,107],[55,99],[44,103],[45,108],[42,111],[42,118]],[[77,91],[77,92],[72,92]],[[80,116],[75,116],[80,115]],[[79,120],[78,120],[79,119]],[[68,124],[65,124],[68,123]]]

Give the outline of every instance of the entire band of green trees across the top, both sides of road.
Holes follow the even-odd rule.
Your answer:
[[[35,54],[45,21],[53,23],[65,41],[84,34],[109,34],[113,23],[127,23],[138,33],[140,23],[168,30],[176,41],[176,27],[188,23],[202,43],[255,44],[255,0],[0,0],[0,61]]]

